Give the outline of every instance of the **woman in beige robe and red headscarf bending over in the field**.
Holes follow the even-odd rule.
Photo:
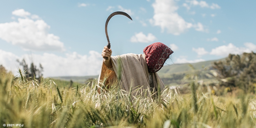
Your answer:
[[[112,50],[105,46],[101,55],[109,59],[103,59],[98,83],[111,85],[118,76],[121,89],[127,93],[137,87],[142,90],[150,88],[153,93],[163,90],[165,86],[156,72],[163,67],[173,51],[165,44],[157,42],[145,47],[143,53],[111,56]]]

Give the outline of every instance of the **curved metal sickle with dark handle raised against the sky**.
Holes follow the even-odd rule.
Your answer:
[[[107,47],[109,49],[110,49],[110,41],[109,41],[109,35],[108,35],[108,23],[109,23],[109,20],[111,19],[111,17],[113,17],[114,15],[124,15],[124,16],[128,17],[129,19],[131,19],[131,17],[127,13],[125,13],[125,12],[113,12],[112,14],[109,15],[108,19],[106,20],[106,24],[105,24],[105,33],[106,33],[106,37],[107,37],[107,40],[108,40]],[[104,57],[104,59],[108,60],[109,58],[108,57]]]

